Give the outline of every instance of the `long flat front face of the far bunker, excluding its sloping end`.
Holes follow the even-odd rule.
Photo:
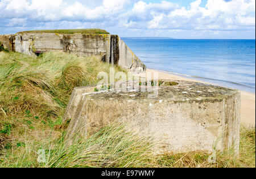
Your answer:
[[[106,55],[109,41],[110,35],[16,33],[15,52],[32,54],[61,50],[80,56]]]

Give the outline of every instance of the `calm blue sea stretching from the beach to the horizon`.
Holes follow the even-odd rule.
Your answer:
[[[123,41],[148,68],[255,93],[255,40]]]

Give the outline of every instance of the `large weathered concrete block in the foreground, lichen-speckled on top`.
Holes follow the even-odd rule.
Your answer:
[[[142,91],[129,81],[127,92],[75,88],[64,121],[71,120],[67,138],[91,135],[102,126],[121,122],[155,141],[156,154],[212,152],[240,142],[240,92],[208,84],[177,81],[177,85]],[[168,80],[166,80],[168,82]],[[138,82],[136,82],[138,84]]]

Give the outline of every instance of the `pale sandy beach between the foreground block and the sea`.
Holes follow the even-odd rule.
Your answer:
[[[166,71],[147,69],[147,72],[158,72],[159,79],[187,80],[193,82],[206,83],[196,79],[184,78]],[[246,126],[255,126],[255,94],[241,91],[241,123]]]

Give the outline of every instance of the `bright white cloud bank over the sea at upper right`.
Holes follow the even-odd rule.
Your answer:
[[[162,2],[162,4],[164,3]],[[151,3],[145,4],[140,1],[134,5],[133,11],[141,10],[143,13],[146,11],[150,18],[147,22],[144,22],[145,19],[139,20],[138,18],[137,24],[133,23],[133,27],[149,29],[215,29],[220,31],[255,30],[254,0],[233,0],[229,2],[224,0],[208,0],[205,7],[200,5],[201,0],[197,0],[192,2],[188,8],[169,6],[167,8],[169,11],[160,12],[159,7],[168,6]],[[149,6],[151,8],[148,8]],[[171,7],[175,7],[175,9],[171,9]]]

